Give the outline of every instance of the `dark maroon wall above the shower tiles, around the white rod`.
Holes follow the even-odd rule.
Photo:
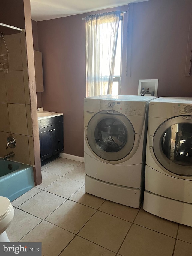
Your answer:
[[[0,1],[0,22],[20,29],[25,29],[23,0],[1,0]],[[20,33],[15,29],[0,26],[0,32],[5,35]]]

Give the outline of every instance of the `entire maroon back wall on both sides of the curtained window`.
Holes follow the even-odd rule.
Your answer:
[[[113,10],[128,10],[128,6]],[[124,14],[122,90],[137,95],[139,79],[159,79],[158,96],[191,96],[184,77],[191,0],[151,0],[133,4],[131,77],[127,77],[127,23]],[[110,9],[111,10],[111,9]],[[105,12],[101,10],[92,13]],[[90,13],[89,13],[90,14]],[[38,22],[43,56],[45,110],[64,113],[64,152],[84,156],[83,98],[86,96],[85,21],[79,14]]]

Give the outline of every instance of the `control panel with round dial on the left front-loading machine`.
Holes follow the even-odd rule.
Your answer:
[[[126,116],[145,116],[146,103],[139,101],[99,100],[99,111],[118,111]]]

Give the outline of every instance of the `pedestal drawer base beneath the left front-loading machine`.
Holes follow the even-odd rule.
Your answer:
[[[85,192],[134,208],[139,208],[142,200],[140,188],[119,186],[88,175],[85,176]]]

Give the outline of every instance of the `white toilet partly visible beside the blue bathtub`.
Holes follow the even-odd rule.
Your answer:
[[[10,242],[6,233],[7,227],[9,227],[14,217],[14,209],[6,197],[0,196],[0,242]]]

